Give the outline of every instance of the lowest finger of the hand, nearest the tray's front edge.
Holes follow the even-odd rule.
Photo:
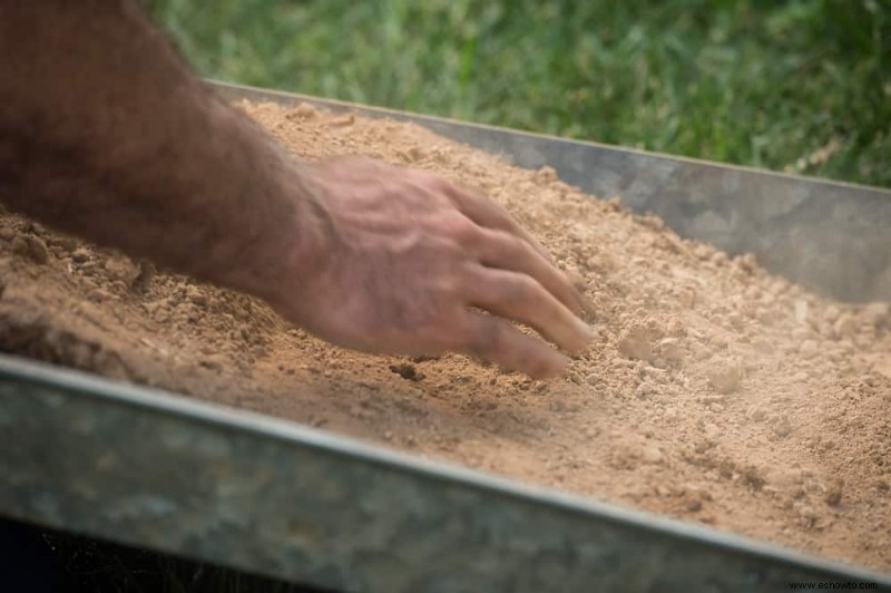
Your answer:
[[[526,336],[510,322],[468,311],[464,351],[508,370],[536,379],[550,379],[566,372],[569,359],[541,340]]]

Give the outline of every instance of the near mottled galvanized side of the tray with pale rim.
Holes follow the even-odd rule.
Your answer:
[[[0,434],[0,515],[342,591],[891,591],[889,575],[8,356]]]

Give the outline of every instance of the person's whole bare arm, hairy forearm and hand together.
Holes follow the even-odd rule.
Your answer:
[[[568,359],[509,320],[571,351],[593,337],[507,211],[428,172],[298,167],[127,0],[0,1],[0,202],[350,348],[552,377]]]

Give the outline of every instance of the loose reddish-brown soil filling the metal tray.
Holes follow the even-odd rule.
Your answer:
[[[593,347],[537,382],[331,347],[263,303],[0,220],[0,349],[891,570],[891,314],[679,239],[420,127],[243,104],[297,157],[481,188],[580,286]]]

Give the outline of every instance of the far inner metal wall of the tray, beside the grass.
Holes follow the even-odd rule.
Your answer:
[[[621,196],[678,234],[728,253],[755,253],[771,271],[849,301],[891,299],[891,191],[576,142],[303,95],[214,82],[228,99],[310,103],[413,121],[500,154],[554,167],[599,197]]]

